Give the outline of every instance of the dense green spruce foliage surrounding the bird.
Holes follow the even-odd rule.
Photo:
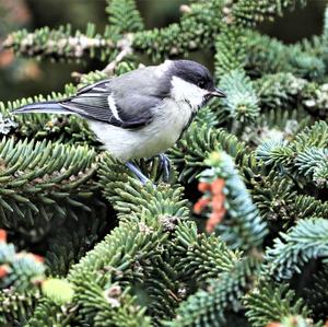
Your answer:
[[[0,103],[0,227],[45,258],[0,240],[1,326],[324,326],[328,11],[323,34],[294,45],[256,30],[305,2],[190,1],[179,23],[147,31],[133,0],[108,0],[104,33],[8,36],[19,56],[109,63],[61,94]],[[153,159],[136,162],[155,187],[141,185],[78,117],[11,115],[144,55],[198,50],[227,97],[168,150],[168,184]]]

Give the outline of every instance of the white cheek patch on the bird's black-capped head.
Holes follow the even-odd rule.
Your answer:
[[[208,91],[198,87],[195,84],[184,81],[178,77],[172,78],[172,97],[175,101],[187,101],[194,110],[197,110],[203,103]]]

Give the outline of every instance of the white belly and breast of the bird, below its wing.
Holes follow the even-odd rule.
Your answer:
[[[89,120],[89,124],[115,157],[122,161],[151,157],[174,145],[191,116],[186,102],[166,100],[156,110],[156,118],[151,124],[134,130],[95,120]]]

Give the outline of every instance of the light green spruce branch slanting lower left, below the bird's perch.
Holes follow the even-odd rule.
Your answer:
[[[148,225],[149,224],[149,225]],[[157,225],[154,229],[153,225]],[[152,255],[161,254],[160,244],[167,237],[156,221],[131,219],[121,222],[119,227],[113,230],[104,241],[89,252],[79,264],[69,272],[69,280],[78,281],[87,272],[102,273],[107,271],[107,280],[121,280],[136,278],[142,282],[136,262],[147,261]],[[120,252],[117,252],[120,248]],[[102,281],[104,284],[104,281]]]

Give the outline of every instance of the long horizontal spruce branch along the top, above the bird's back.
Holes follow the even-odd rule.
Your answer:
[[[133,7],[132,1],[125,1]],[[86,33],[77,31],[71,36],[71,26],[49,30],[47,27],[36,30],[34,33],[19,31],[12,33],[3,46],[12,48],[24,56],[37,56],[58,59],[80,60],[87,57],[97,57],[108,60],[117,56],[117,48],[121,43],[120,32],[137,31],[141,28],[139,14],[134,10],[122,9],[121,1],[114,1],[110,5],[110,22],[103,35],[95,33],[95,26],[87,25]],[[169,54],[176,56],[188,54],[202,47],[209,47],[212,35],[218,32],[220,25],[221,0],[211,0],[201,4],[191,4],[190,12],[185,13],[179,24],[153,31],[141,31],[130,34],[131,49],[133,52],[148,52],[154,61],[163,59]],[[109,8],[109,7],[108,7]],[[124,12],[121,20],[120,13]],[[130,16],[130,12],[131,16]],[[119,17],[119,19],[118,19]],[[133,19],[131,25],[127,20]]]

